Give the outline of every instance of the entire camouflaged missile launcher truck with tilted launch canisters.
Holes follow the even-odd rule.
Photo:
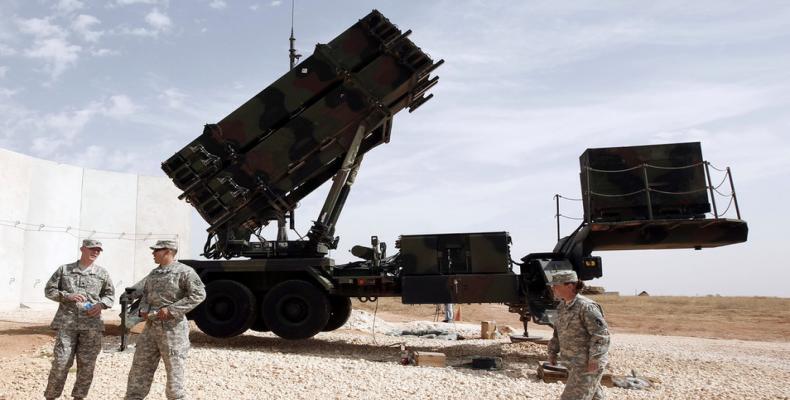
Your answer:
[[[708,217],[712,187],[698,143],[588,149],[584,222],[552,251],[514,261],[507,232],[402,235],[389,255],[376,236],[359,261],[328,256],[364,155],[392,135],[393,117],[430,100],[434,61],[374,10],[162,164],[208,222],[203,256],[182,260],[206,284],[189,317],[206,334],[248,329],[285,339],[341,327],[352,298],[406,304],[505,303],[548,323],[553,271],[602,275],[594,250],[705,248],[743,242],[746,222]],[[298,202],[331,188],[304,238],[289,240]],[[711,193],[712,194],[712,193]],[[277,237],[262,229],[277,224]]]

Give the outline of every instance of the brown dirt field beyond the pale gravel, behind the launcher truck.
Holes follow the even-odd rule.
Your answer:
[[[612,332],[691,336],[711,339],[790,341],[790,298],[589,296],[604,309]],[[388,321],[444,318],[433,305],[406,305],[395,298],[376,303],[354,300],[354,308],[374,312]],[[458,309],[458,306],[456,306]],[[461,320],[494,320],[521,330],[516,314],[502,304],[462,304]],[[530,324],[541,332],[546,329]]]

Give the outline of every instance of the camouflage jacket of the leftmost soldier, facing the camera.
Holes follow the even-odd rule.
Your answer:
[[[50,325],[52,329],[103,331],[101,316],[88,316],[77,307],[77,303],[66,300],[66,296],[70,294],[84,295],[89,302],[104,308],[112,307],[115,287],[107,270],[96,264],[83,270],[79,267],[79,261],[61,265],[44,286],[44,295],[60,303]]]

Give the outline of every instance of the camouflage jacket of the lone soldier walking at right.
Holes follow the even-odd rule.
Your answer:
[[[554,336],[549,341],[549,354],[557,355],[573,365],[589,361],[604,364],[608,360],[609,327],[598,303],[581,295],[568,304],[560,302]]]

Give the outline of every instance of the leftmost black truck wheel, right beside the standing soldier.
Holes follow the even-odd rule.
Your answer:
[[[195,324],[203,333],[228,338],[244,333],[256,312],[255,295],[243,284],[219,280],[206,285],[206,300],[195,308]]]

